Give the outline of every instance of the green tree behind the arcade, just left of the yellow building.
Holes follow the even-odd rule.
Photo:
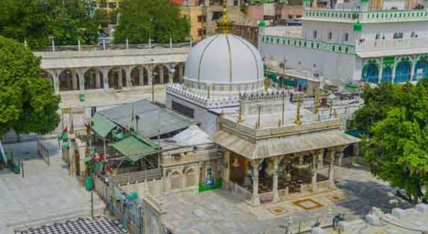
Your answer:
[[[177,4],[169,0],[128,0],[119,6],[120,20],[115,43],[147,43],[149,37],[166,43],[184,41],[190,32],[190,22],[181,16]]]

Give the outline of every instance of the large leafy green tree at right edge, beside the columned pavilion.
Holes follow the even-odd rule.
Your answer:
[[[357,127],[367,133],[361,148],[372,173],[416,198],[428,186],[426,84],[366,87],[366,105],[356,113]]]

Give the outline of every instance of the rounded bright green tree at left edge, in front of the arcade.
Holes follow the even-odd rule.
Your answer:
[[[40,58],[23,44],[0,36],[0,137],[16,133],[50,133],[59,124],[59,96],[40,77]]]

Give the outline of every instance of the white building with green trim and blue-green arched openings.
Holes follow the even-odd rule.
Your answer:
[[[428,0],[418,10],[372,11],[370,0],[337,3],[336,9],[311,9],[310,4],[305,0],[300,38],[270,36],[261,27],[264,58],[338,83],[428,77]]]

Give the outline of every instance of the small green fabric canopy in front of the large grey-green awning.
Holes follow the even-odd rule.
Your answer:
[[[141,136],[128,136],[119,142],[110,144],[110,146],[134,162],[147,154],[153,154],[157,151],[157,148],[153,147],[155,142],[150,139],[146,139],[151,141],[146,143],[139,138],[141,138]]]

